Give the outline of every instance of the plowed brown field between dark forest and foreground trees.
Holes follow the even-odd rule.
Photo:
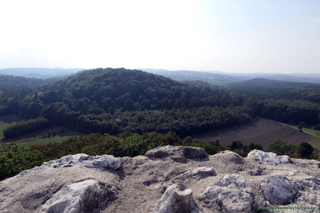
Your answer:
[[[259,143],[264,148],[275,139],[300,144],[312,138],[307,133],[262,118],[222,130],[194,134],[191,137],[202,142],[219,140],[220,144],[231,144],[232,141],[241,141],[244,145]]]

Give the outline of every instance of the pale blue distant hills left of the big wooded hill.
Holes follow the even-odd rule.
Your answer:
[[[27,78],[48,79],[58,76],[72,75],[85,69],[61,69],[61,68],[8,68],[0,69],[0,75],[13,75]]]

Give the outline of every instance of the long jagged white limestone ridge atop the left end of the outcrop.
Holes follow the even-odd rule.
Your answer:
[[[112,155],[89,156],[86,154],[76,154],[63,156],[58,160],[44,162],[41,166],[36,166],[32,169],[21,171],[19,174],[24,175],[38,169],[66,168],[71,166],[84,166],[87,168],[99,169],[118,169],[121,167],[121,157]]]

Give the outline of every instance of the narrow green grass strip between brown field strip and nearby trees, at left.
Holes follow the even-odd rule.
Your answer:
[[[73,130],[67,130],[62,133],[57,133],[55,136],[35,138],[30,141],[23,141],[23,142],[18,142],[18,143],[25,148],[29,148],[29,146],[33,145],[33,144],[60,142],[60,141],[63,141],[71,136],[77,136],[77,135],[81,135],[81,133],[78,133]]]

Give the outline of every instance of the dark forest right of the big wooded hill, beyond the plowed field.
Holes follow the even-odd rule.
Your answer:
[[[319,127],[320,84],[253,79],[229,85],[237,94],[246,94],[243,105],[253,115]]]

